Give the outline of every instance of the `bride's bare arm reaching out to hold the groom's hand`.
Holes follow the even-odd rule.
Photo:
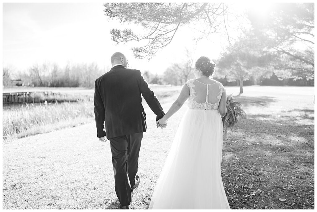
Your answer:
[[[189,87],[186,84],[184,84],[178,98],[172,104],[171,108],[167,111],[163,118],[159,120],[159,123],[166,124],[166,121],[183,106],[184,102],[188,99],[188,97]]]

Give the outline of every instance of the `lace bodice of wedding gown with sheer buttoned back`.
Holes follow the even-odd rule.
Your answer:
[[[204,85],[205,89],[206,89],[206,101],[204,103],[197,103],[196,101],[194,101],[194,99],[197,97],[196,96],[196,90],[194,90],[195,88],[195,84],[193,83],[201,83]],[[213,85],[213,84],[204,84],[202,82],[199,82],[198,80],[195,79],[190,79],[185,83],[188,87],[189,87],[189,99],[188,99],[188,107],[190,109],[203,109],[203,110],[218,110],[218,106],[219,106],[219,102],[221,99],[221,95],[223,93],[223,91],[225,90],[223,85],[220,82],[216,82],[213,84],[217,84],[218,86],[213,86],[213,88],[218,88],[219,91],[217,92],[217,102],[216,103],[209,103],[208,99],[209,99],[209,89],[210,86],[209,85]],[[197,92],[200,92],[197,90]],[[202,91],[201,91],[202,92]],[[215,92],[213,92],[215,93]],[[198,95],[198,94],[197,94]],[[201,95],[201,94],[199,94]],[[215,94],[214,94],[215,95]]]

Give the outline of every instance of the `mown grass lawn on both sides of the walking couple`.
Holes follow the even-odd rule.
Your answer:
[[[165,112],[178,89],[158,95]],[[236,95],[238,88],[226,90]],[[313,87],[245,86],[236,98],[247,115],[223,142],[222,177],[231,209],[314,209],[313,95]],[[156,128],[155,115],[145,109],[148,132],[133,209],[148,208],[187,106],[166,129]],[[3,142],[3,209],[119,209],[109,141],[96,139],[93,118]]]

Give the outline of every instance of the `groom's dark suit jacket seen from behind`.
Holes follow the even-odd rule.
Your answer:
[[[162,118],[165,115],[163,108],[139,70],[117,65],[96,79],[94,112],[97,137],[107,135],[109,139],[146,132],[141,94],[156,114],[156,120]]]

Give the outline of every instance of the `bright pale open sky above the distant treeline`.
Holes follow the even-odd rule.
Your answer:
[[[195,32],[183,28],[151,60],[135,59],[130,48],[138,43],[116,44],[110,29],[137,27],[109,20],[103,9],[103,3],[3,3],[3,66],[25,72],[34,64],[63,67],[95,62],[109,69],[111,55],[122,52],[131,68],[162,74],[172,63],[184,60],[185,48],[194,60],[217,59],[226,45],[219,34],[195,43]]]

